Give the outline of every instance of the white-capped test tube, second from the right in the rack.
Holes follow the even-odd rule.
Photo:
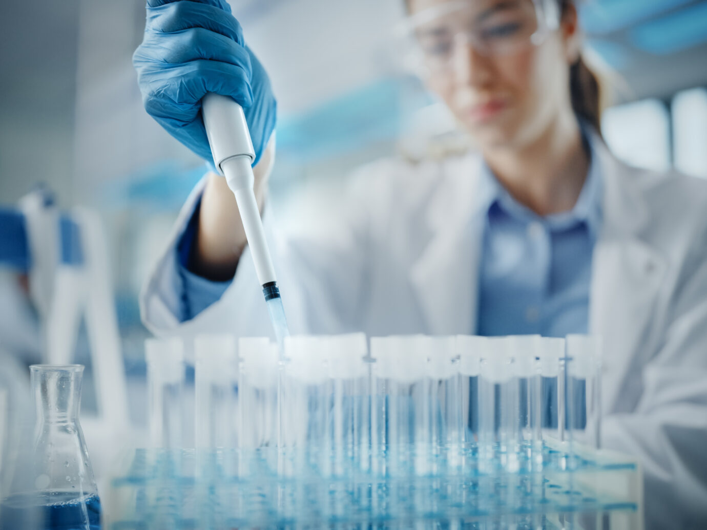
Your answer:
[[[542,440],[544,443],[548,440],[561,441],[564,437],[565,399],[564,383],[560,375],[565,356],[565,339],[542,337],[539,344]]]

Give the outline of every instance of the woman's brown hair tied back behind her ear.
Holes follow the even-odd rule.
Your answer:
[[[557,0],[561,16],[575,6],[577,0]],[[409,0],[404,0],[407,11]],[[578,117],[588,122],[596,131],[602,131],[602,86],[597,75],[587,66],[583,57],[570,66],[570,96],[572,108]]]

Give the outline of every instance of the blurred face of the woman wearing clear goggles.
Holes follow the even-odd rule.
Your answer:
[[[467,0],[445,14],[451,5],[409,0],[412,15],[428,8],[443,13],[416,29],[425,81],[482,150],[522,148],[561,113],[572,112],[567,35],[575,33],[574,25],[568,33],[563,20],[560,30],[534,44],[532,0]]]

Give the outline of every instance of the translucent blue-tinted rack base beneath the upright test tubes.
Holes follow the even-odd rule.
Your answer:
[[[105,527],[642,528],[641,471],[617,454],[546,444],[542,461],[508,473],[481,471],[474,446],[435,450],[420,476],[411,463],[429,448],[401,449],[395,465],[387,452],[368,469],[346,459],[336,473],[322,472],[316,449],[139,449],[112,481]]]

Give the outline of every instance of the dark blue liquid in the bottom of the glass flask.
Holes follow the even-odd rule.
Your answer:
[[[19,493],[0,505],[0,530],[100,530],[98,495]]]

